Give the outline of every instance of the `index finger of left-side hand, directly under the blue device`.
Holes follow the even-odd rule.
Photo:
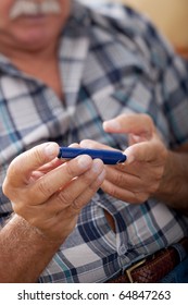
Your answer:
[[[35,194],[34,204],[42,204],[60,188],[65,187],[74,178],[79,176],[92,166],[87,155],[78,156],[37,180],[29,188],[30,197]]]

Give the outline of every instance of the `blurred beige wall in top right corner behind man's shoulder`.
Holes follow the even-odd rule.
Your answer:
[[[188,0],[114,0],[145,12],[176,48],[188,49]]]

